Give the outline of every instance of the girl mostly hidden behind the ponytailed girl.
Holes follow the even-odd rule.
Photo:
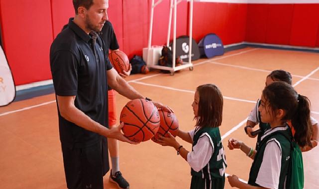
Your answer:
[[[292,84],[291,74],[287,71],[284,71],[284,70],[274,70],[266,77],[265,85],[267,86],[267,85],[270,85],[273,82],[277,82],[277,81],[286,82],[287,84],[291,85]],[[257,100],[257,103],[256,103],[254,109],[251,110],[251,112],[249,113],[247,123],[246,123],[247,126],[245,127],[246,134],[249,137],[254,138],[257,135],[252,135],[253,128],[255,127],[255,125],[257,125],[259,123],[260,133],[258,134],[258,137],[257,137],[256,150],[258,147],[258,143],[260,142],[261,136],[264,134],[264,132],[267,129],[270,128],[270,125],[268,123],[264,123],[260,120],[260,112],[258,111],[259,105],[260,105],[260,99]],[[302,151],[309,151],[318,145],[318,140],[319,140],[318,121],[316,119],[314,119],[313,117],[310,117],[310,118],[311,118],[311,124],[313,125],[313,132],[312,132],[312,139],[311,139],[312,146],[307,145],[301,149]],[[288,124],[289,124],[289,126],[291,126],[291,128],[293,130],[293,134],[294,134],[294,128],[292,127],[291,122],[288,121]]]

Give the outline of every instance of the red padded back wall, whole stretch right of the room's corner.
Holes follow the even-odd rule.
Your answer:
[[[319,4],[248,4],[248,42],[319,46]]]

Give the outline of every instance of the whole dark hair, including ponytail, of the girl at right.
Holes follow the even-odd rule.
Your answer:
[[[291,120],[296,130],[294,139],[299,146],[311,146],[310,101],[308,97],[298,95],[291,85],[285,82],[274,82],[265,87],[263,96],[269,102],[274,115],[275,110],[283,109],[286,115],[283,121]]]

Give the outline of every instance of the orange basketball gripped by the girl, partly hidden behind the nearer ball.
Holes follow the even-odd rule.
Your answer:
[[[158,136],[168,137],[168,132],[170,132],[174,137],[176,137],[178,132],[178,120],[173,112],[164,111],[162,109],[158,110],[160,115],[160,127],[157,133],[152,138],[152,141],[157,142]]]

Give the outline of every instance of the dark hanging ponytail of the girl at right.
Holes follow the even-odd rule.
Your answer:
[[[298,105],[295,115],[292,116],[291,123],[296,130],[295,141],[301,147],[311,145],[311,121],[310,121],[310,101],[308,97],[298,95]]]

